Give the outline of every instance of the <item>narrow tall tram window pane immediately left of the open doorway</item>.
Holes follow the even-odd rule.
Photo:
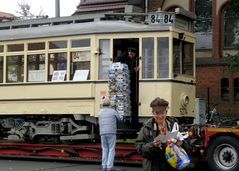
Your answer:
[[[99,42],[99,80],[108,79],[108,69],[110,64],[110,40],[100,40]]]

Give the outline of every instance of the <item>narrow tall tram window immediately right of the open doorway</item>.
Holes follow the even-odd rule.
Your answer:
[[[154,38],[143,38],[142,78],[154,76]]]

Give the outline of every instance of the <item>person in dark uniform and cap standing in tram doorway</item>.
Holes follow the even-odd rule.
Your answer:
[[[130,101],[132,110],[132,126],[138,127],[138,79],[139,79],[139,58],[137,57],[137,49],[128,48],[127,53],[117,56],[114,62],[121,62],[128,65],[130,73]]]

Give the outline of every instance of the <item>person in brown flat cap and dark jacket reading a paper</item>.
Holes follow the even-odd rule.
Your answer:
[[[141,128],[136,139],[137,151],[143,157],[144,171],[173,171],[165,159],[165,146],[160,140],[155,138],[159,134],[172,131],[173,125],[177,120],[167,116],[168,102],[161,98],[154,99],[150,107],[153,117],[146,121]],[[178,140],[177,145],[182,145]]]

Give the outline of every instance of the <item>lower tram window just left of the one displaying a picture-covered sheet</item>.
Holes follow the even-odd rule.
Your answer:
[[[45,81],[45,54],[27,56],[27,73],[28,82]]]

